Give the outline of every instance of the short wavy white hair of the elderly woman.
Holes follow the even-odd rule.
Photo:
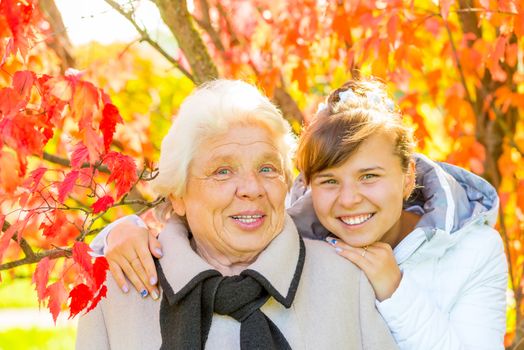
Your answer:
[[[288,185],[292,179],[296,137],[278,108],[251,84],[218,79],[199,86],[188,96],[162,140],[159,174],[153,190],[159,195],[185,192],[189,165],[198,147],[232,125],[262,125],[273,134],[284,160]]]

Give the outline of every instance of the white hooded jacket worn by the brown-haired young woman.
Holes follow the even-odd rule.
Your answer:
[[[504,349],[507,262],[492,226],[495,189],[461,168],[417,155],[418,189],[405,209],[422,215],[394,249],[400,286],[376,302],[399,347]],[[291,214],[299,231],[323,239],[307,190],[295,184]]]

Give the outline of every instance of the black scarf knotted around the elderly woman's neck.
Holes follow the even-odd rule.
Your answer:
[[[278,327],[260,310],[273,297],[286,308],[293,303],[304,266],[305,247],[300,238],[300,253],[288,295],[283,297],[269,281],[254,270],[224,277],[216,270],[195,276],[178,293],[169,285],[158,260],[155,260],[163,289],[160,305],[160,349],[204,349],[213,313],[229,315],[241,323],[240,348],[291,349]]]

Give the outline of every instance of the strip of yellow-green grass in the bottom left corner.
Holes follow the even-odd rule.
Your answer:
[[[12,328],[0,331],[0,350],[69,350],[75,348],[76,329]]]

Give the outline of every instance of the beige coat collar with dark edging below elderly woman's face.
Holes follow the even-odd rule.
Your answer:
[[[158,261],[166,282],[176,295],[195,277],[205,275],[214,267],[192,248],[184,224],[170,220],[160,233],[164,255]],[[243,271],[273,289],[276,299],[289,307],[298,287],[304,261],[304,243],[292,219],[286,215],[284,228],[264,249],[258,258]]]

